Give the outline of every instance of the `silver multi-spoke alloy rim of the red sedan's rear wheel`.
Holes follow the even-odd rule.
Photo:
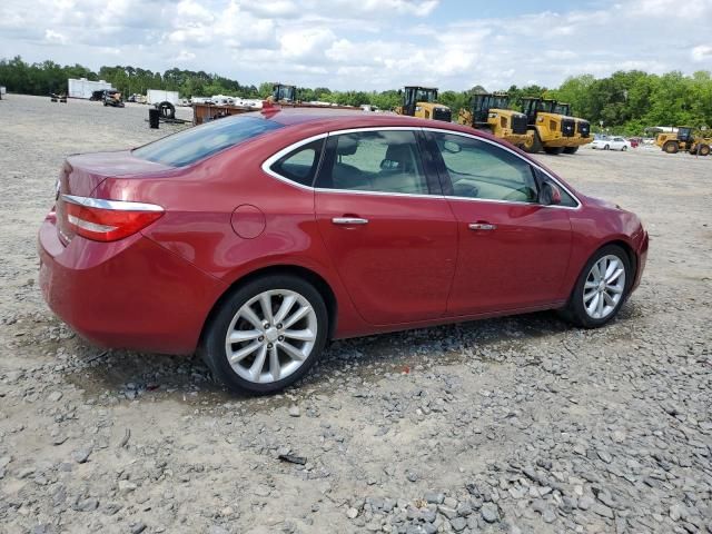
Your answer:
[[[294,374],[312,354],[316,312],[289,289],[263,291],[237,310],[225,337],[230,367],[241,378],[269,384]]]

